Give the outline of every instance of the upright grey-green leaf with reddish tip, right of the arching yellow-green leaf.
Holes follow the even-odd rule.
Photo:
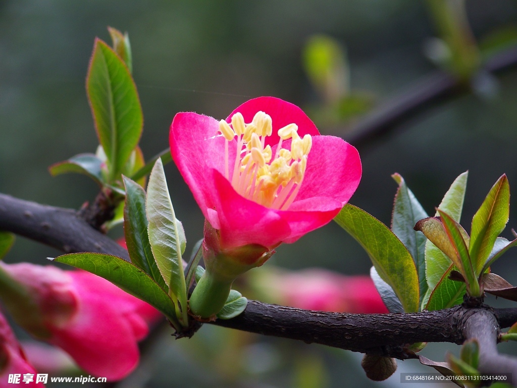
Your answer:
[[[407,187],[404,178],[397,173],[391,177],[399,184],[393,204],[391,231],[399,237],[415,261],[420,285],[420,302],[422,302],[421,300],[428,290],[425,279],[425,241],[427,238],[422,233],[415,231],[413,227],[428,215],[413,192]]]

